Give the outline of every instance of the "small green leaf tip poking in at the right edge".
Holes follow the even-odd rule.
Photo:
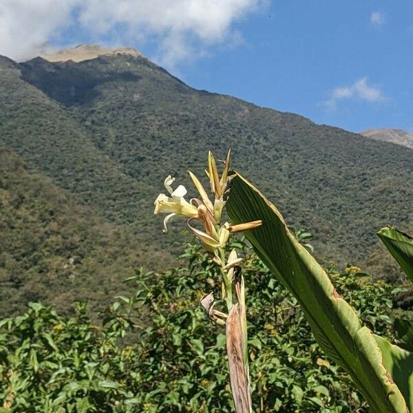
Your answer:
[[[413,282],[413,238],[390,226],[377,231],[377,236]]]

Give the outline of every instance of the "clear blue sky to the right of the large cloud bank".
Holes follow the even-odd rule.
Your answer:
[[[185,81],[351,131],[413,131],[413,1],[273,1],[239,28],[245,45],[182,67]],[[378,95],[351,89],[364,79]]]

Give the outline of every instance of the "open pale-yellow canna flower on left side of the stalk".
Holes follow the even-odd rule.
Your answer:
[[[175,191],[173,191],[171,184],[175,178],[171,178],[169,175],[165,179],[165,188],[171,196],[164,195],[160,193],[158,198],[155,200],[155,211],[154,213],[167,213],[168,215],[164,220],[164,232],[168,231],[167,222],[175,215],[179,215],[187,218],[198,218],[198,208],[193,204],[184,199],[187,195],[187,189],[183,185],[180,185]]]

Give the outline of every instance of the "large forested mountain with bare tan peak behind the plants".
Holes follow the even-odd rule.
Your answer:
[[[340,265],[368,263],[381,226],[413,222],[411,149],[193,89],[138,52],[79,50],[58,54],[63,61],[0,58],[0,145],[19,156],[28,176],[41,176],[87,214],[133,235],[139,262],[167,266],[169,252],[180,251],[184,222],[162,234],[153,200],[169,174],[190,187],[186,171],[202,176],[209,149],[223,158],[231,147],[233,166],[288,224],[315,235],[319,257]],[[0,216],[9,220],[5,209]],[[119,279],[123,262],[110,260]]]

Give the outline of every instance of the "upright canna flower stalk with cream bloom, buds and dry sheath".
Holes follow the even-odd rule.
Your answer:
[[[198,198],[185,200],[187,189],[179,185],[175,190],[172,184],[175,178],[165,179],[165,188],[169,196],[158,195],[155,200],[155,213],[167,213],[164,220],[164,232],[171,218],[180,216],[187,218],[189,229],[202,243],[211,260],[220,268],[222,288],[220,300],[216,301],[213,292],[204,295],[201,305],[211,321],[226,329],[226,351],[228,354],[231,392],[237,413],[251,413],[251,392],[248,372],[246,303],[244,277],[241,271],[242,258],[237,251],[226,251],[231,233],[251,231],[262,224],[260,220],[238,222],[236,225],[225,222],[222,224],[222,212],[227,202],[229,184],[229,165],[231,150],[224,160],[224,169],[219,176],[215,158],[211,152],[208,155],[207,177],[211,189],[212,200],[202,186],[200,180],[189,171],[189,176],[198,191]],[[198,227],[197,227],[198,225]],[[226,309],[218,310],[220,301],[226,304]]]

